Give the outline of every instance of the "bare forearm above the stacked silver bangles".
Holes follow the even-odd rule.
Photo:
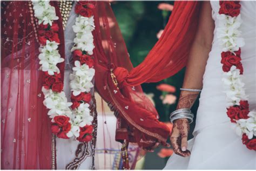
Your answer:
[[[211,5],[203,2],[198,31],[188,57],[183,88],[201,89],[203,75],[212,48],[214,22],[211,17]],[[181,91],[177,108],[191,108],[199,92]]]

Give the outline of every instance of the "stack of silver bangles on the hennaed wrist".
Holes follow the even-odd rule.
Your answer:
[[[194,115],[188,108],[180,108],[170,114],[170,120],[173,123],[177,119],[188,119],[190,124],[193,122]]]

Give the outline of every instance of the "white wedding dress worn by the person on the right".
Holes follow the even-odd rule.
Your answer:
[[[211,2],[212,18],[218,27],[219,1]],[[242,81],[249,96],[250,110],[256,110],[256,2],[241,2]],[[203,78],[203,90],[197,111],[194,138],[188,142],[191,156],[174,154],[164,169],[256,169],[256,152],[242,144],[226,114],[226,100],[221,81],[221,47],[215,36]]]

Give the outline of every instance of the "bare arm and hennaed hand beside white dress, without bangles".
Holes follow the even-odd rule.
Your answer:
[[[201,2],[198,30],[188,57],[183,88],[201,89],[203,87],[203,75],[208,59],[208,53],[212,48],[214,21],[210,2]],[[191,108],[198,97],[198,92],[181,91],[177,109]],[[187,119],[174,120],[171,144],[174,153],[187,157],[187,135],[190,125]]]

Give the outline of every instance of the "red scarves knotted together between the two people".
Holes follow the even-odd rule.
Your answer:
[[[117,117],[116,140],[151,149],[166,145],[170,130],[140,84],[173,76],[185,65],[198,25],[200,3],[176,2],[163,35],[145,60],[133,68],[116,18],[107,2],[95,9],[96,88]]]

